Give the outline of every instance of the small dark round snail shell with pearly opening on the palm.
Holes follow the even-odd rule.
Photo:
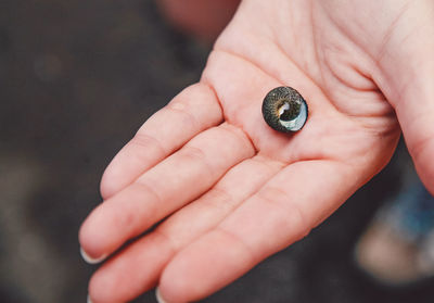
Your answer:
[[[277,87],[265,97],[263,115],[272,129],[282,132],[297,131],[306,123],[307,103],[295,89]]]

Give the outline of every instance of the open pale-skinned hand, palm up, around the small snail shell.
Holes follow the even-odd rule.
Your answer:
[[[79,240],[93,258],[164,219],[91,278],[93,303],[158,286],[205,298],[305,237],[390,161],[400,132],[434,191],[434,2],[244,0],[200,83],[155,113],[104,173]],[[278,86],[309,105],[279,134]]]

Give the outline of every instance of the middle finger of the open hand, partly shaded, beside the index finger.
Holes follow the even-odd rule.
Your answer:
[[[212,190],[105,263],[90,281],[92,301],[126,302],[153,288],[178,251],[218,225],[282,166],[280,162],[255,156],[231,168]]]

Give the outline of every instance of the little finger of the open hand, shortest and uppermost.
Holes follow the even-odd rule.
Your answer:
[[[196,134],[221,119],[221,109],[208,86],[188,87],[150,117],[113,159],[102,177],[102,197],[107,199],[124,189]]]

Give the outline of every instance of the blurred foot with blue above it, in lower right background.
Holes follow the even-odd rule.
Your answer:
[[[380,210],[355,257],[363,272],[390,286],[434,276],[434,198],[420,182]]]

